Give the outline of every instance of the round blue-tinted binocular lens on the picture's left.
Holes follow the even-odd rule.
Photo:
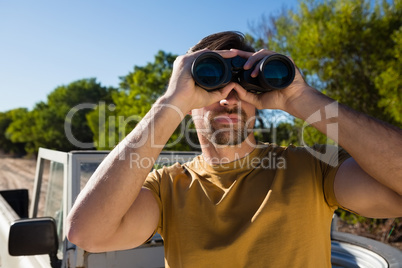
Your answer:
[[[195,75],[202,85],[216,85],[222,82],[225,67],[217,58],[204,58],[195,68]]]

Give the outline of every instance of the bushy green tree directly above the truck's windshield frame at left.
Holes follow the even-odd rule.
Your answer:
[[[6,133],[13,142],[24,142],[29,153],[39,147],[70,151],[88,149],[93,141],[86,114],[99,101],[110,101],[115,89],[106,88],[96,79],[82,79],[59,86],[35,108],[16,118]],[[82,144],[87,145],[83,148]]]

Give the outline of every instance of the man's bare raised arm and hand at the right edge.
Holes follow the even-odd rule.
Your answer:
[[[249,68],[271,53],[241,55],[250,57]],[[341,165],[335,178],[335,195],[342,206],[367,217],[402,216],[401,129],[337,103],[308,86],[299,71],[286,89],[261,95],[235,89],[258,109],[281,109],[307,121],[350,153],[353,159]]]

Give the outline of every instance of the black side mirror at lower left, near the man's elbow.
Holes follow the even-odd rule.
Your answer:
[[[10,226],[8,252],[11,256],[56,255],[58,247],[56,222],[53,218],[21,219]]]

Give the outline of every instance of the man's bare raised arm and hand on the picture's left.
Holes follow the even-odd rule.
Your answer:
[[[111,151],[79,194],[67,217],[68,239],[90,252],[133,248],[154,232],[159,207],[142,188],[152,165],[185,114],[226,97],[233,83],[207,92],[195,86],[190,66],[202,51],[178,57],[166,93]],[[235,52],[221,52],[233,57]],[[146,166],[132,163],[147,159]]]

